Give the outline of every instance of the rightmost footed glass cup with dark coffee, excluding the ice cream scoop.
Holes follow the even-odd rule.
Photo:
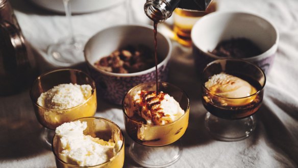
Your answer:
[[[215,74],[226,73],[245,80],[256,92],[243,98],[228,98],[205,87]],[[239,59],[220,59],[209,63],[202,74],[202,102],[207,109],[205,126],[218,140],[236,141],[249,137],[256,127],[253,117],[260,108],[266,77],[261,68]]]

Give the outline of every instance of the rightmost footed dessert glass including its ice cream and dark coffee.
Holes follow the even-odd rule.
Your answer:
[[[205,67],[202,102],[207,109],[205,126],[213,138],[237,141],[252,134],[265,83],[263,70],[244,60],[220,59]]]

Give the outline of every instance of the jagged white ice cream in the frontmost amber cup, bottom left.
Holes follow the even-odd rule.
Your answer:
[[[56,135],[59,137],[61,152],[59,158],[63,161],[80,166],[94,166],[110,160],[117,154],[122,145],[119,140],[112,142],[100,138],[93,138],[84,135],[87,128],[86,122],[64,123],[56,128]]]

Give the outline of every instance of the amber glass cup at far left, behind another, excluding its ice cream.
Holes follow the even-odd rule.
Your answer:
[[[63,110],[48,109],[37,104],[40,94],[59,84],[89,84],[92,87],[90,97],[82,104]],[[93,79],[81,70],[58,69],[40,75],[32,84],[30,97],[38,122],[45,128],[41,137],[51,146],[56,127],[74,119],[93,116],[96,112],[96,89]]]

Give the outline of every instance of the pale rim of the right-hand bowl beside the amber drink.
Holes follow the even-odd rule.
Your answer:
[[[279,31],[276,27],[276,25],[271,22],[270,20],[260,16],[260,15],[257,15],[257,14],[254,14],[254,13],[251,13],[251,12],[243,12],[243,11],[216,11],[216,12],[212,12],[208,15],[205,15],[203,16],[201,19],[199,19],[198,21],[195,22],[195,24],[193,25],[193,28],[194,27],[197,27],[197,25],[199,25],[201,22],[203,22],[204,20],[210,18],[210,17],[215,17],[217,15],[250,15],[250,16],[254,16],[254,17],[257,17],[257,18],[260,18],[261,20],[269,23],[269,25],[273,28],[273,30],[275,31],[275,35],[276,35],[276,39],[275,39],[275,42],[273,45],[271,45],[271,47],[264,51],[263,53],[259,54],[259,55],[256,55],[256,56],[253,56],[253,57],[248,57],[248,58],[242,58],[243,60],[247,60],[247,61],[253,61],[253,60],[256,60],[258,58],[263,58],[263,57],[266,57],[266,56],[270,56],[270,53],[272,52],[275,52],[278,48],[278,43],[279,43]],[[194,29],[192,29],[191,31],[191,39],[195,39],[193,38],[194,36]],[[192,40],[192,45],[193,47],[196,47],[198,50],[200,50],[201,52],[203,52],[204,54],[208,55],[209,57],[212,57],[214,59],[222,59],[222,58],[226,58],[226,57],[219,57],[215,54],[212,54],[212,53],[209,53],[209,52],[204,52],[201,48],[200,48],[200,45],[197,45],[196,44],[196,41],[195,40]]]

